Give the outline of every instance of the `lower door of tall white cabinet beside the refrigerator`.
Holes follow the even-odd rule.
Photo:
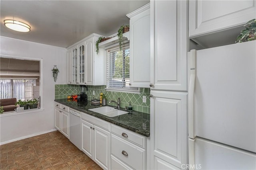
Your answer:
[[[187,94],[154,90],[150,93],[153,95],[150,100],[152,156],[180,167],[187,160]]]

